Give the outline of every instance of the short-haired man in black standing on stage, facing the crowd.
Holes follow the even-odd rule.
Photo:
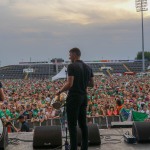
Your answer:
[[[88,149],[88,128],[86,122],[87,87],[94,86],[92,69],[80,60],[81,51],[72,48],[69,51],[71,64],[68,65],[68,77],[64,86],[56,93],[69,90],[66,99],[66,112],[70,134],[70,150],[77,150],[77,121],[81,128],[81,150]]]

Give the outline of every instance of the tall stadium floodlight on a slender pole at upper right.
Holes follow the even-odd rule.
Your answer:
[[[143,11],[148,10],[147,0],[135,0],[135,6],[136,6],[136,11],[141,12],[141,20],[142,20],[142,69],[143,69],[143,72],[145,72]]]

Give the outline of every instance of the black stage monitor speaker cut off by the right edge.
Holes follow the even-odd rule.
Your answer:
[[[150,122],[134,122],[132,135],[139,143],[150,142]]]

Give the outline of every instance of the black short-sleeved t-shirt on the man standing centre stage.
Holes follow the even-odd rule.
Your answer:
[[[68,65],[68,76],[74,76],[73,86],[69,94],[86,94],[88,83],[93,77],[92,69],[81,60]]]

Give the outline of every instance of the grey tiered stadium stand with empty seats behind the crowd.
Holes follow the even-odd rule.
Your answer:
[[[104,74],[111,76],[113,73],[124,73],[126,71],[132,71],[135,73],[142,71],[142,61],[135,62],[86,62],[94,73],[103,72]],[[0,79],[26,79],[26,78],[37,78],[45,79],[51,78],[57,74],[63,66],[68,63],[58,64],[58,70],[56,64],[26,64],[26,65],[9,65],[0,68]],[[145,68],[150,65],[149,61],[145,61]],[[101,70],[101,67],[111,67],[112,70]],[[24,69],[33,69],[33,72],[25,73]]]

